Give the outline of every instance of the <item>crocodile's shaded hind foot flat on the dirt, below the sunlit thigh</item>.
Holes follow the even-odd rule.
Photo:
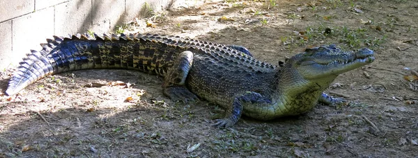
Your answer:
[[[199,100],[186,87],[166,87],[164,88],[164,94],[169,96],[173,102],[183,101],[183,103],[188,103],[189,101]]]

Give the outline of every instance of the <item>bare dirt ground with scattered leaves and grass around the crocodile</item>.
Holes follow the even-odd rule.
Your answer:
[[[8,69],[0,78],[0,157],[418,157],[410,72],[418,71],[417,10],[418,1],[406,0],[226,0],[138,19],[120,31],[242,45],[270,63],[331,43],[369,47],[376,61],[330,85],[327,92],[349,97],[346,105],[274,121],[243,117],[228,129],[210,126],[222,108],[173,103],[157,76],[72,71],[6,96]]]

